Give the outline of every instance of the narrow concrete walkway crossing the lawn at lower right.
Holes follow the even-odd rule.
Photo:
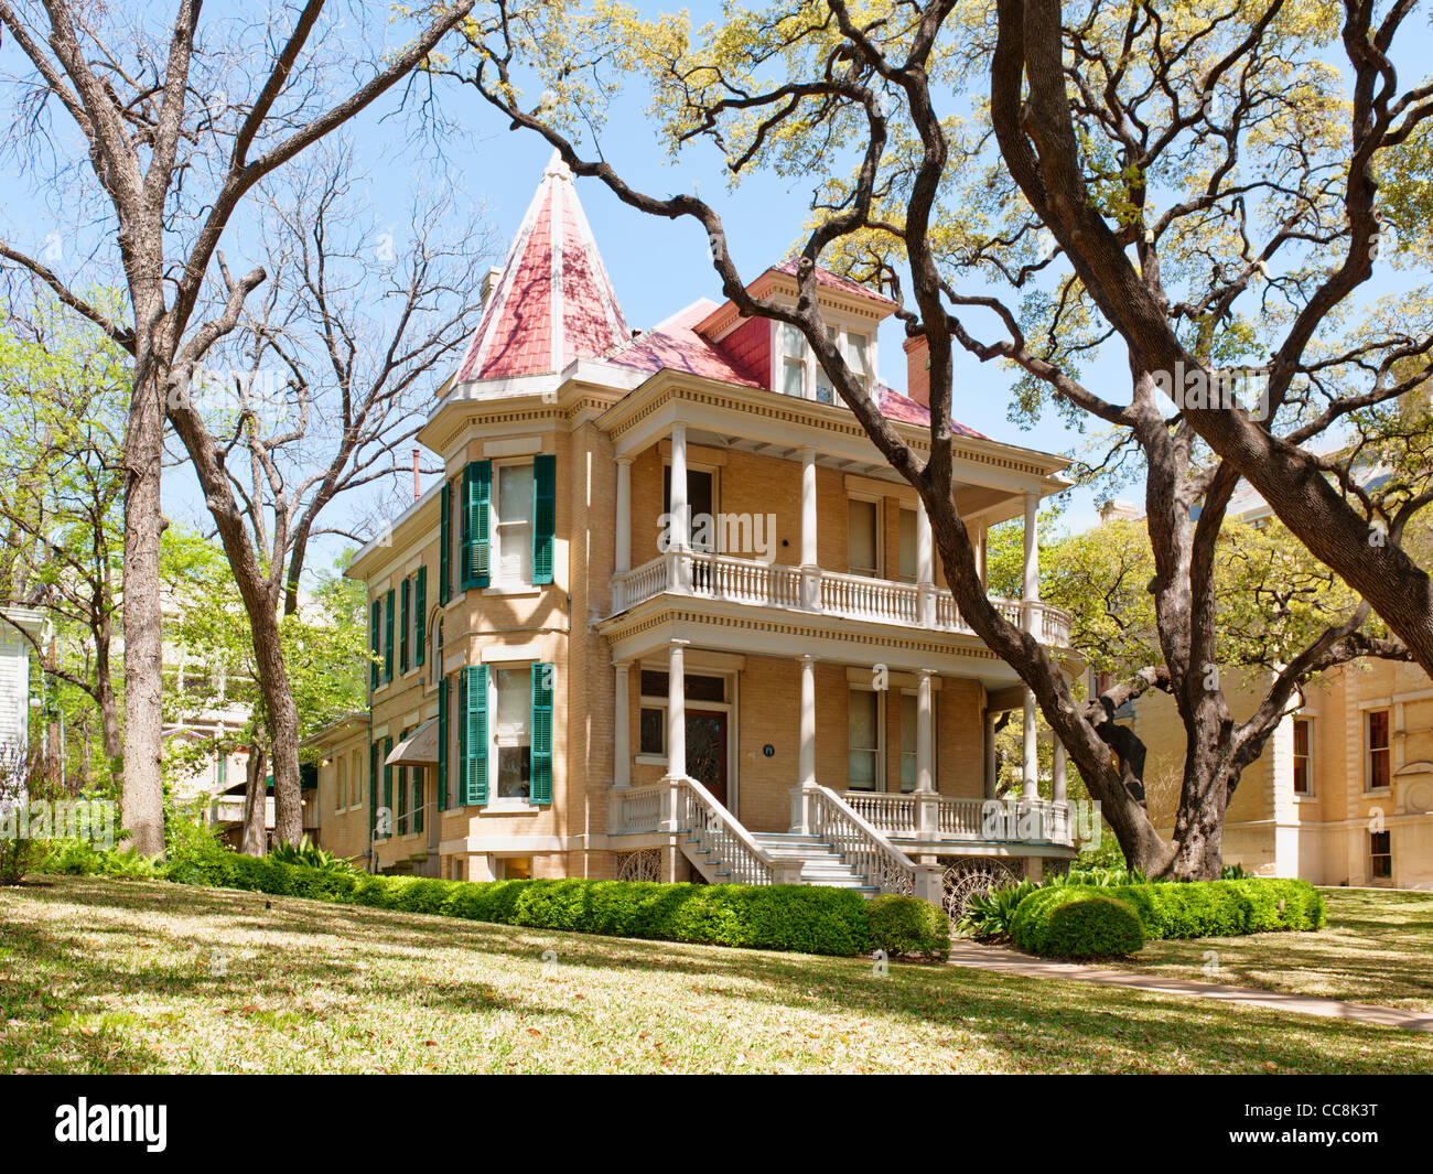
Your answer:
[[[1273,1011],[1293,1011],[1300,1015],[1320,1015],[1324,1019],[1347,1019],[1356,1023],[1377,1023],[1384,1028],[1433,1032],[1433,1013],[1403,1011],[1396,1006],[1347,1003],[1341,999],[1321,999],[1314,995],[1293,995],[1284,991],[1262,991],[1257,986],[1227,986],[1219,982],[1159,978],[1108,966],[1086,966],[1080,962],[1052,962],[1046,958],[1020,953],[1007,946],[984,946],[979,942],[956,939],[950,943],[950,965],[970,966],[1025,978],[1053,978],[1073,982],[1098,982],[1123,986],[1129,991],[1158,991],[1164,995],[1184,995],[1191,999],[1222,999],[1245,1006],[1265,1006]]]

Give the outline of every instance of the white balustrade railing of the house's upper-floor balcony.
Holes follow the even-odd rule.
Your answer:
[[[864,575],[820,572],[817,599],[820,611],[850,619],[868,619],[901,626],[921,625],[920,588]],[[956,601],[944,588],[926,588],[934,596],[933,624],[937,629],[969,632],[974,629],[960,615]],[[672,550],[642,566],[613,576],[615,611],[626,611],[666,592],[701,599],[729,599],[765,608],[808,608],[802,591],[802,572],[797,566],[758,559],[735,559],[705,550]],[[1025,625],[1026,609],[1035,634],[1043,644],[1068,646],[1070,618],[1048,603],[1019,599],[992,599],[996,611],[1017,628]]]

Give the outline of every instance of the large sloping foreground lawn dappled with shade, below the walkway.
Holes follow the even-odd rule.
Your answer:
[[[1088,983],[40,882],[0,889],[0,1072],[1413,1072],[1433,1052]]]

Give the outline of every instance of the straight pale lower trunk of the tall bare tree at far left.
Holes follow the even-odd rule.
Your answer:
[[[153,354],[152,351],[149,353]],[[162,452],[160,390],[153,361],[136,364],[125,430],[125,830],[143,856],[165,850],[163,616],[159,598],[159,502]]]

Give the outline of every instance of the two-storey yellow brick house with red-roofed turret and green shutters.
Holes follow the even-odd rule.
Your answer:
[[[794,302],[791,274],[752,288]],[[848,361],[929,452],[919,345],[916,400],[876,377],[894,305],[820,281]],[[956,427],[983,560],[987,528],[1029,522],[1066,460]],[[729,302],[628,331],[560,163],[418,440],[447,474],[348,572],[378,664],[371,714],[312,740],[327,847],[473,880],[934,899],[1072,856],[1063,755],[1058,801],[1036,798],[1025,689],[956,614],[914,492],[804,340]],[[1039,602],[1033,545],[1026,599],[1002,608],[1082,671],[1068,616]],[[986,800],[1007,708],[1029,731],[1009,824]]]

